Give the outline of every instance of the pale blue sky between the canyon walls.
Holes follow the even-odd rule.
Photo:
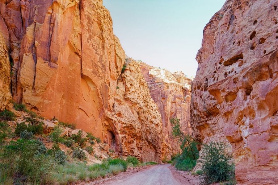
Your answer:
[[[195,76],[204,26],[225,0],[103,0],[126,55]]]

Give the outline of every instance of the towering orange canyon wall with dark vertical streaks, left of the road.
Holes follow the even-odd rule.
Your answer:
[[[1,109],[11,89],[17,103],[75,123],[119,154],[161,162],[157,105],[138,64],[122,74],[125,54],[102,0],[1,0],[0,13],[0,44],[7,46],[0,50]]]

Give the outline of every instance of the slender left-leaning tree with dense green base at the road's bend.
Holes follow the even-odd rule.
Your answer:
[[[170,122],[172,124],[172,134],[178,139],[182,150],[181,154],[176,154],[172,157],[172,165],[179,170],[190,171],[196,165],[196,160],[199,158],[197,142],[189,134],[182,132],[179,118],[171,118]]]

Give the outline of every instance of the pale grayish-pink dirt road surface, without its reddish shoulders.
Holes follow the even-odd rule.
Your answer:
[[[104,185],[181,185],[169,169],[171,165],[155,165],[144,171],[119,178]],[[190,183],[188,183],[190,184]],[[184,183],[183,183],[184,185]]]

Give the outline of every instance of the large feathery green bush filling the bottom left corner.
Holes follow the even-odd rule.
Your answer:
[[[54,160],[42,151],[43,143],[19,139],[0,150],[0,182],[14,179],[16,184],[40,184],[52,172]],[[45,151],[45,150],[44,150]]]

